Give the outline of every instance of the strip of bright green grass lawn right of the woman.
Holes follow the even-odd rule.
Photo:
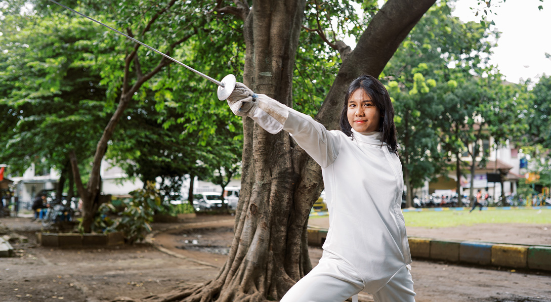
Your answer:
[[[406,226],[447,228],[481,223],[551,224],[551,209],[405,212]]]

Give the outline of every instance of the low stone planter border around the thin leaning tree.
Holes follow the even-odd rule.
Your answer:
[[[116,246],[125,244],[122,232],[109,234],[42,233],[36,232],[36,241],[42,246],[64,248]]]

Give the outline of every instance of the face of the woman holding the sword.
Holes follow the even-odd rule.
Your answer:
[[[379,131],[381,113],[363,89],[358,89],[348,99],[348,122],[355,131],[366,134]]]

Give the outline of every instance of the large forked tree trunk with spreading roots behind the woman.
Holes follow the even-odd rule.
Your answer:
[[[434,2],[385,4],[343,62],[318,121],[337,128],[349,83],[363,73],[379,75]],[[251,11],[246,5],[224,10],[245,19],[244,83],[288,106],[304,6],[305,0],[258,0]],[[228,260],[213,281],[145,301],[279,300],[310,271],[306,228],[323,187],[321,168],[288,133],[269,134],[250,118],[243,124],[241,192]]]

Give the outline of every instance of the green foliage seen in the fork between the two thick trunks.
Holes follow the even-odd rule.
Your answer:
[[[332,44],[347,36],[359,37],[372,14],[379,10],[376,1],[364,1],[364,14],[358,15],[352,3],[333,0],[306,2],[304,23],[307,29],[300,33],[301,43],[295,58],[294,109],[316,115],[341,67],[339,53],[328,47],[322,36]]]

